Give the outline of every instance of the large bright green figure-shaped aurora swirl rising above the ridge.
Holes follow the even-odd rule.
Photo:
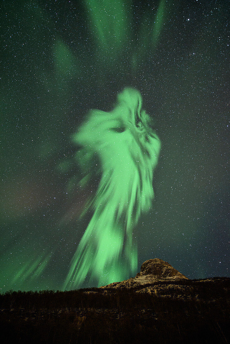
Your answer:
[[[151,207],[153,169],[160,151],[151,118],[141,108],[140,93],[126,88],[111,112],[92,110],[73,137],[82,147],[76,158],[84,178],[93,174],[97,155],[101,180],[64,289],[80,286],[86,277],[100,286],[136,272],[132,230],[141,211]]]

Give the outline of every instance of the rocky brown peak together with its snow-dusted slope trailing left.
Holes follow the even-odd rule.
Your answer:
[[[133,278],[122,282],[113,282],[101,288],[132,288],[140,284],[149,284],[157,281],[177,281],[188,279],[181,272],[174,269],[167,261],[159,258],[149,259],[141,265],[141,271]]]

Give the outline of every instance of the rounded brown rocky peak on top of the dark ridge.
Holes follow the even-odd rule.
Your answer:
[[[155,258],[143,262],[141,271],[137,273],[136,278],[150,275],[152,278],[186,278],[179,271],[174,269],[167,261]]]

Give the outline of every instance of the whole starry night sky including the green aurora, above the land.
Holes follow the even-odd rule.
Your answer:
[[[2,2],[1,292],[106,284],[154,257],[229,274],[228,10]],[[136,90],[162,141],[153,186],[160,146]]]

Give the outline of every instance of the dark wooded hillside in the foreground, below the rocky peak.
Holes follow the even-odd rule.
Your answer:
[[[0,295],[1,343],[228,343],[229,278]]]

